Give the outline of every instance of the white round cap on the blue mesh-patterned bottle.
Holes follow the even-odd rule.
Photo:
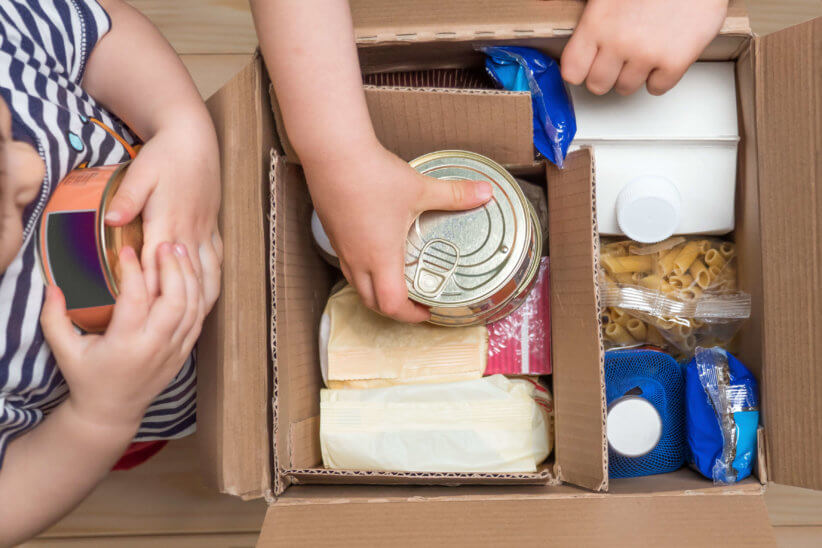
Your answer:
[[[611,449],[626,457],[641,457],[659,443],[662,418],[645,398],[626,396],[608,408],[606,432]]]

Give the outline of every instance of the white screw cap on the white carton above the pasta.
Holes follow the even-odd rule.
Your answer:
[[[628,183],[616,200],[617,223],[626,236],[652,244],[669,238],[679,226],[681,199],[670,180],[643,175]]]

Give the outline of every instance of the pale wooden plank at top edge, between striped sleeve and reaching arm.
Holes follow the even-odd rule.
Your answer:
[[[178,53],[253,53],[248,0],[126,0],[157,25]]]

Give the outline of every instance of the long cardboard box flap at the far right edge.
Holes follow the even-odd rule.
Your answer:
[[[769,479],[822,489],[822,18],[756,38]]]

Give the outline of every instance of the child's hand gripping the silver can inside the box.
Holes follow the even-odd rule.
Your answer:
[[[366,306],[400,321],[428,319],[428,310],[408,299],[408,229],[423,211],[484,204],[490,184],[424,177],[379,145],[355,157],[324,158],[303,167],[343,274]]]

